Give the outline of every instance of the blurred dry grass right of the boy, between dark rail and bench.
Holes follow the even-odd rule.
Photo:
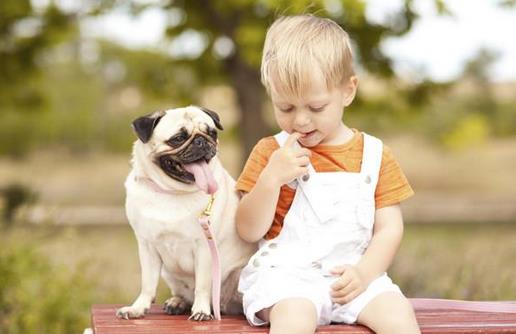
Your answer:
[[[513,223],[409,224],[393,280],[408,297],[514,300]]]

